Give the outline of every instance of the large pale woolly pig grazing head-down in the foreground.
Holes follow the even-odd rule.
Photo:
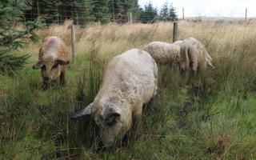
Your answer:
[[[132,123],[142,124],[142,105],[156,94],[158,66],[146,51],[132,49],[114,57],[106,66],[94,102],[73,118],[92,115],[101,129],[103,147],[122,140]]]

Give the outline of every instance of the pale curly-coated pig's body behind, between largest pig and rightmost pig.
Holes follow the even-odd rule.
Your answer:
[[[166,42],[150,42],[146,50],[158,64],[178,63],[180,59],[180,46]]]

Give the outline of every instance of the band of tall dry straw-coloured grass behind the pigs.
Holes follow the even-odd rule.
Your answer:
[[[70,46],[71,21],[63,25],[49,26],[46,30],[38,30],[40,37],[56,35],[63,38]],[[254,41],[256,31],[255,23],[248,26],[230,23],[192,23],[180,22],[178,24],[178,39],[194,37],[202,41],[213,56],[227,55],[232,50],[238,50],[238,46],[248,46]],[[90,51],[91,42],[96,42],[101,50],[100,54],[121,53],[130,48],[142,48],[152,41],[171,42],[172,27],[170,22],[155,24],[106,24],[81,27],[77,26],[77,50],[78,54]],[[38,45],[35,45],[38,47]],[[230,47],[229,53],[223,53],[226,47]],[[31,50],[34,50],[33,47]],[[239,48],[241,49],[241,48]],[[27,49],[26,49],[27,50]],[[29,50],[30,51],[30,50]]]

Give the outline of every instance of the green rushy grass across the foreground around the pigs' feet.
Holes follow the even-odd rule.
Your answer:
[[[90,117],[70,115],[93,100],[106,62],[119,53],[101,57],[92,46],[68,67],[66,86],[56,82],[50,90],[39,90],[40,72],[30,66],[2,75],[0,159],[256,159],[256,74],[248,63],[254,47],[231,47],[215,57],[215,70],[197,76],[160,66],[158,95],[144,107],[144,134],[109,151],[96,150]]]

